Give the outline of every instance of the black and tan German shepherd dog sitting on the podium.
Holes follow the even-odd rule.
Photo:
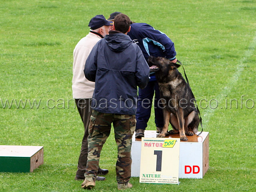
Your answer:
[[[148,63],[157,66],[152,71],[156,73],[163,104],[164,127],[157,137],[166,136],[170,122],[173,130],[169,134],[180,133],[180,140],[187,141],[186,135],[193,136],[198,131],[200,118],[190,86],[177,69],[180,64],[153,56],[148,58]]]

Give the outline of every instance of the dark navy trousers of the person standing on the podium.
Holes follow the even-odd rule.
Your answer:
[[[163,110],[159,108],[158,100],[160,100],[159,86],[156,81],[148,82],[148,85],[144,89],[139,88],[138,94],[138,107],[136,112],[136,130],[146,129],[148,120],[151,115],[152,99],[155,94],[154,100],[154,112],[155,112],[155,124],[156,127],[164,126]],[[143,103],[142,103],[143,102]],[[162,107],[162,106],[160,106]]]

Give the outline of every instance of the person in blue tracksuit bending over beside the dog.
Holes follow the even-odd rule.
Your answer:
[[[152,26],[146,23],[133,23],[131,24],[131,30],[128,32],[128,36],[130,36],[133,42],[140,47],[146,61],[148,61],[148,57],[151,55],[155,57],[166,57],[174,63],[177,62],[176,51],[172,40],[170,40],[166,34],[159,30],[155,30]],[[160,99],[158,83],[156,82],[156,76],[152,74],[150,75],[150,82],[146,88],[139,88],[138,108],[136,113],[136,138],[144,137],[144,130],[147,127],[151,114],[154,94],[156,127],[157,130],[163,127],[163,112],[158,106],[158,100]]]

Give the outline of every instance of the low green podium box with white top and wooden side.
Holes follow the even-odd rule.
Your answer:
[[[33,172],[43,163],[43,146],[0,145],[0,172]]]

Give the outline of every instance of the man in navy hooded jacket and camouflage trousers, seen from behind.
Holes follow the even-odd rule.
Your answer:
[[[136,125],[137,86],[145,88],[150,69],[142,51],[127,34],[130,18],[119,14],[114,31],[94,46],[84,74],[95,82],[88,136],[86,179],[82,188],[92,188],[99,167],[100,152],[113,123],[118,146],[116,180],[118,189],[131,188],[131,145]]]

